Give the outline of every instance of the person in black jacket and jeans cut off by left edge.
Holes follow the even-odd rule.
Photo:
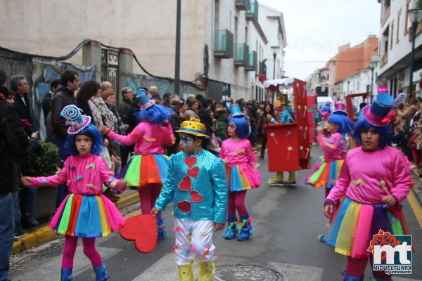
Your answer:
[[[29,139],[15,107],[6,102],[6,74],[0,68],[0,280],[8,279],[14,238],[15,200],[19,188],[16,159],[25,154]]]

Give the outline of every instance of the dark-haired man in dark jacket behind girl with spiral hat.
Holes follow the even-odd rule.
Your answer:
[[[69,157],[70,153],[65,148],[65,143],[68,138],[68,129],[65,126],[65,119],[60,116],[60,112],[66,105],[75,105],[75,91],[79,89],[79,74],[74,70],[66,70],[60,78],[62,87],[58,89],[51,100],[51,126],[53,127],[53,136],[51,137],[53,143],[58,146],[58,155],[62,164]],[[68,195],[68,188],[65,184],[59,185],[57,189],[57,206]]]

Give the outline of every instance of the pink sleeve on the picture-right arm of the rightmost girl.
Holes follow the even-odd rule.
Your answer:
[[[412,185],[409,165],[407,164],[407,160],[400,152],[395,155],[392,170],[392,174],[394,176],[394,185],[390,190],[390,193],[397,199],[397,203],[400,203],[406,199]]]

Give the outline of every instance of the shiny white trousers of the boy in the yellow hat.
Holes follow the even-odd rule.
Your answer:
[[[193,259],[210,261],[214,256],[215,246],[212,244],[213,221],[174,218],[173,231],[176,237],[174,254],[176,255],[177,266],[186,266]]]

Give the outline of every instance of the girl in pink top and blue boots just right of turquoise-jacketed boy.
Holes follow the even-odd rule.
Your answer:
[[[236,227],[236,210],[241,222],[241,233],[238,241],[248,240],[252,233],[252,226],[248,210],[245,207],[246,191],[258,188],[261,175],[257,157],[253,153],[252,145],[248,141],[249,126],[237,103],[230,106],[229,136],[223,141],[219,157],[226,164],[227,181],[229,183],[229,206],[227,214],[227,228],[224,238],[234,239],[238,234]]]

